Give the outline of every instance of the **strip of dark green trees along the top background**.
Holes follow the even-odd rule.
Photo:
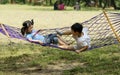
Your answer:
[[[0,0],[1,4],[31,4],[31,5],[44,5],[52,6],[56,0]],[[58,0],[63,1],[66,6],[74,6],[75,2],[83,7],[120,7],[120,0]],[[115,2],[115,6],[114,3]]]

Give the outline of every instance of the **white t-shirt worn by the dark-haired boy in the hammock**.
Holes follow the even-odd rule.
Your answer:
[[[81,49],[84,46],[88,46],[88,48],[90,48],[90,37],[87,35],[88,33],[88,29],[87,28],[83,28],[83,36],[82,37],[77,37],[74,36],[74,39],[76,40],[76,45],[74,46],[74,49]]]

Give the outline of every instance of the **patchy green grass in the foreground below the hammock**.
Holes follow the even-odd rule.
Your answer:
[[[106,46],[80,54],[35,44],[6,44],[0,45],[0,48],[0,75],[120,74],[120,45]]]

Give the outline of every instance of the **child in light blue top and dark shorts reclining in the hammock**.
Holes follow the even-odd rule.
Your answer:
[[[61,47],[65,45],[64,41],[61,40],[60,36],[57,34],[49,34],[46,36],[38,34],[33,30],[34,22],[33,20],[27,20],[23,22],[23,27],[21,28],[21,33],[31,42],[37,42],[41,45],[44,44],[55,44]]]

